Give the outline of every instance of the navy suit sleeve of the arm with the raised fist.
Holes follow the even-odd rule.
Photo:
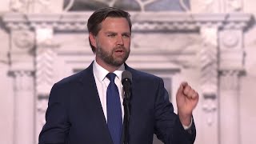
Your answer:
[[[169,102],[169,94],[164,88],[162,79],[155,98],[154,118],[154,133],[165,144],[194,143],[196,135],[194,121],[189,130],[184,130],[178,115],[174,113],[173,105]]]

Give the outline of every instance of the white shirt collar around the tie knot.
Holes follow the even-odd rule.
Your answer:
[[[94,60],[93,70],[96,78],[98,78],[98,81],[102,82],[106,78],[106,74],[109,74],[110,72],[106,69],[104,69],[102,66],[99,66],[96,60]],[[122,64],[118,68],[118,70],[115,70],[113,73],[117,75],[118,79],[121,80],[122,78],[122,72],[125,70],[125,65]]]

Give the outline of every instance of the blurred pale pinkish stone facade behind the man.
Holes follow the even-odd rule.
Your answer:
[[[115,6],[133,22],[129,66],[200,95],[196,144],[256,143],[254,0],[2,0],[0,142],[35,144],[51,86],[94,60],[86,21]],[[146,100],[145,100],[146,101]],[[161,144],[154,138],[154,144]]]

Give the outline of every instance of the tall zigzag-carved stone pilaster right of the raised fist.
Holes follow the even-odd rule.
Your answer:
[[[202,27],[201,83],[203,143],[218,144],[218,27]]]

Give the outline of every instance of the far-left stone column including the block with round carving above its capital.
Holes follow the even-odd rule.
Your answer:
[[[34,33],[10,30],[14,82],[14,144],[34,144]]]

